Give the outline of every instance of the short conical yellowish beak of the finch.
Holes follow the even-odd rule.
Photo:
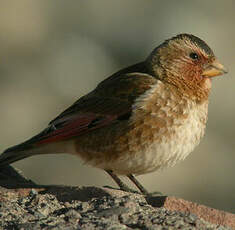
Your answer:
[[[227,73],[227,70],[224,68],[224,66],[218,61],[218,59],[215,59],[211,64],[207,65],[203,72],[202,76],[205,77],[215,77],[218,75],[222,75]]]

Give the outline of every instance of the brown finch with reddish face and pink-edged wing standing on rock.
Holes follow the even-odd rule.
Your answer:
[[[181,33],[112,74],[39,134],[0,155],[0,167],[39,154],[69,153],[106,171],[121,190],[148,191],[136,176],[174,166],[199,144],[212,78],[227,73],[199,37]]]

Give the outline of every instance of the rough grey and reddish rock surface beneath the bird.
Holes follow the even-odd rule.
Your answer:
[[[173,197],[39,186],[0,172],[0,229],[235,229],[235,215]]]

